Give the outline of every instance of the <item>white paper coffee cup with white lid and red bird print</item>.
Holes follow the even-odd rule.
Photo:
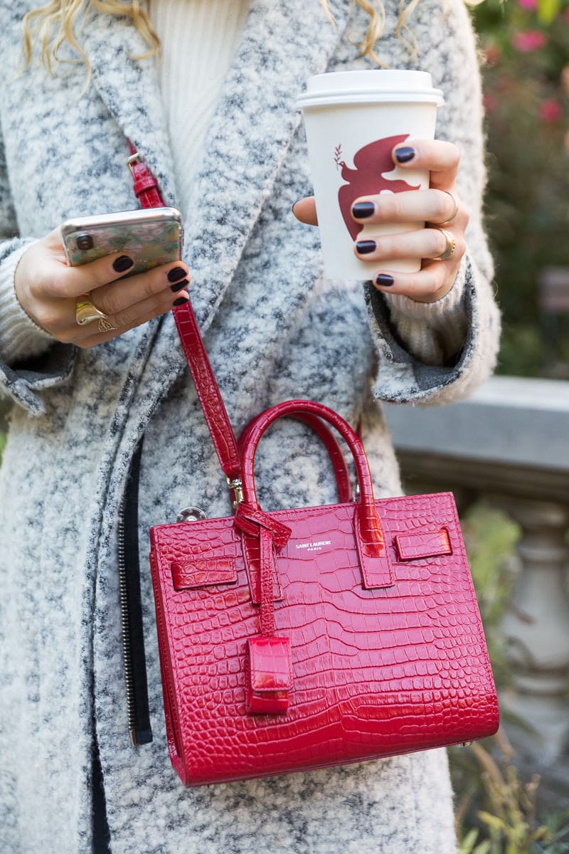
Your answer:
[[[383,270],[416,272],[421,260],[363,261],[354,241],[415,231],[424,222],[357,223],[351,205],[359,196],[426,190],[426,169],[394,166],[392,149],[409,139],[433,139],[443,93],[425,71],[369,70],[316,74],[297,101],[302,108],[324,275],[369,279]]]

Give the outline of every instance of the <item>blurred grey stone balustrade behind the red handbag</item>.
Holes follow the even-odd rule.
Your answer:
[[[569,769],[569,383],[493,377],[448,407],[385,409],[409,492],[450,489],[461,512],[484,498],[520,525],[501,705],[529,724],[529,761]]]

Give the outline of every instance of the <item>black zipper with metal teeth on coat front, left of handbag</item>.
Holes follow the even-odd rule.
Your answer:
[[[142,440],[136,447],[119,506],[117,570],[125,666],[127,722],[133,747],[152,741],[138,560],[138,476]]]

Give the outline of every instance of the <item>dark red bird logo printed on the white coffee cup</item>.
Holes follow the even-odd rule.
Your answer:
[[[400,193],[402,190],[420,189],[420,184],[413,186],[407,181],[390,181],[383,177],[383,173],[392,172],[395,168],[392,161],[393,146],[403,143],[408,138],[409,134],[404,133],[399,137],[376,139],[373,143],[364,145],[353,157],[355,169],[351,169],[345,161],[340,160],[342,156],[340,145],[334,149],[334,161],[337,166],[342,167],[342,178],[348,182],[342,184],[338,190],[338,202],[340,202],[345,227],[350,232],[352,240],[355,240],[363,229],[362,223],[351,219],[351,206],[359,196],[377,196],[381,190]]]

